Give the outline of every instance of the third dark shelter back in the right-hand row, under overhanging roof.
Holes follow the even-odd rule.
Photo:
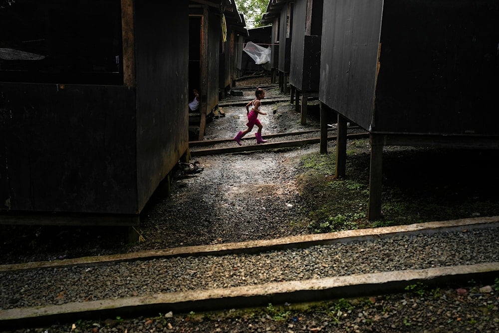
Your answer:
[[[271,24],[276,29],[272,30],[271,67],[277,68],[280,91],[287,93],[293,34],[293,1],[269,0],[267,10],[261,18],[261,23]]]

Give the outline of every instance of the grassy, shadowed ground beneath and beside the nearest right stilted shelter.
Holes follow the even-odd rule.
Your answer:
[[[307,216],[302,225],[311,232],[496,216],[499,211],[499,195],[494,190],[499,186],[499,174],[481,170],[490,169],[489,159],[496,155],[387,148],[383,152],[381,218],[369,221],[368,140],[349,140],[347,154],[346,176],[340,179],[334,178],[334,153],[311,153],[300,160],[297,184]],[[463,170],[476,176],[463,177]]]

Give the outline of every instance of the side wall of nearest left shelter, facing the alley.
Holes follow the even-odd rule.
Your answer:
[[[189,144],[188,5],[141,0],[135,17],[138,206],[143,208]]]

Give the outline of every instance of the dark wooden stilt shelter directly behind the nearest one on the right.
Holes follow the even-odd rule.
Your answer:
[[[289,87],[291,103],[296,95],[296,111],[300,111],[300,122],[305,124],[308,99],[317,98],[319,92],[322,0],[294,0],[293,3]]]

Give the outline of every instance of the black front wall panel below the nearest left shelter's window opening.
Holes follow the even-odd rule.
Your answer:
[[[11,210],[137,212],[135,89],[0,83],[0,90],[0,109],[9,110],[2,149]]]

